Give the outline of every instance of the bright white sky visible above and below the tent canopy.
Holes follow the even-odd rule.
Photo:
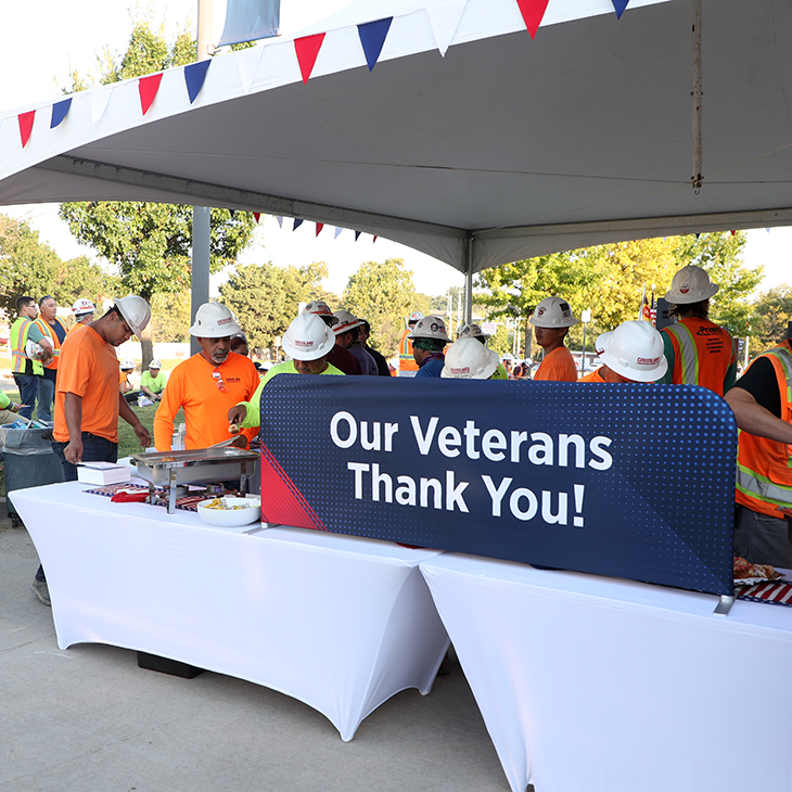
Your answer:
[[[349,0],[281,0],[281,29],[294,33],[348,4]],[[214,0],[214,30],[219,38],[225,18],[225,0]],[[40,0],[14,2],[0,0],[0,21],[7,31],[0,48],[0,110],[17,107],[60,94],[58,84],[67,82],[71,69],[82,75],[95,72],[97,54],[105,47],[123,52],[131,31],[129,9],[150,9],[154,20],[165,24],[173,38],[181,27],[195,29],[197,0]],[[13,31],[13,33],[11,33]],[[15,75],[9,78],[8,75]],[[87,255],[90,248],[78,245],[66,225],[58,219],[56,205],[9,207],[0,210],[26,219],[39,231],[63,259]],[[347,279],[365,261],[403,258],[413,272],[419,292],[443,294],[451,285],[461,285],[463,277],[446,264],[382,238],[376,242],[362,234],[355,242],[352,231],[334,239],[333,228],[325,227],[317,238],[314,223],[303,223],[292,231],[291,220],[281,229],[272,217],[261,218],[254,244],[241,257],[243,264],[272,261],[279,266],[325,261],[331,276],[325,288],[335,294],[344,291]],[[765,267],[759,291],[780,283],[792,284],[792,229],[758,229],[748,232],[745,263]],[[217,289],[221,278],[213,279]]]

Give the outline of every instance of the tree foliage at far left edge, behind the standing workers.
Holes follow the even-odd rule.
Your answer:
[[[60,305],[88,297],[101,305],[102,297],[114,296],[118,286],[117,278],[86,256],[61,260],[39,242],[38,231],[4,215],[0,215],[0,308],[8,317],[16,316],[16,297],[23,294],[37,299],[51,294]]]

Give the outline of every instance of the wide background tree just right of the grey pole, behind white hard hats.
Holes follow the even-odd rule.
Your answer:
[[[328,268],[323,263],[306,267],[238,265],[220,286],[221,302],[235,315],[252,347],[270,348],[297,316],[298,304],[324,299],[321,289]],[[330,295],[333,296],[333,295]]]

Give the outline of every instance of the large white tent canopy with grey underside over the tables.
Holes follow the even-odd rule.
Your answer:
[[[625,239],[792,223],[792,3],[703,0],[703,186],[691,188],[694,0],[360,0],[307,84],[292,39],[0,124],[0,204],[162,201],[403,242],[469,273]],[[525,5],[531,3],[526,0]],[[370,73],[358,25],[393,15]],[[447,51],[445,51],[447,48]],[[445,51],[445,56],[442,52]],[[305,66],[305,64],[304,64]],[[26,145],[18,114],[36,110]],[[2,115],[2,114],[0,114]],[[29,116],[26,116],[29,120]]]

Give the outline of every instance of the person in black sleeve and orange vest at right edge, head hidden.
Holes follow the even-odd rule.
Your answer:
[[[792,569],[792,342],[759,355],[726,394],[738,435],[734,554]]]

